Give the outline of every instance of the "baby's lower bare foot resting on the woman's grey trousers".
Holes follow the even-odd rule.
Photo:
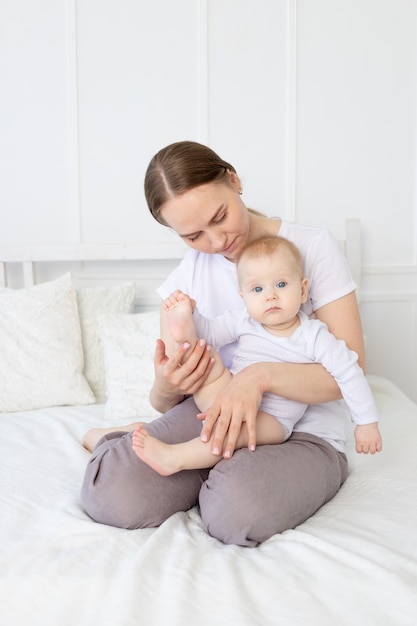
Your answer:
[[[144,463],[161,476],[170,476],[182,469],[177,446],[156,439],[143,426],[133,433],[132,448]]]

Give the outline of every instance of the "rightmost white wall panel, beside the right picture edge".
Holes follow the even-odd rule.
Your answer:
[[[417,4],[297,6],[297,219],[361,217],[365,265],[414,264]]]

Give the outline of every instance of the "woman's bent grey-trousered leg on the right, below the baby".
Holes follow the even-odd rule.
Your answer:
[[[201,517],[223,543],[256,546],[303,523],[345,478],[342,455],[300,433],[284,444],[238,450],[220,461],[200,491]]]

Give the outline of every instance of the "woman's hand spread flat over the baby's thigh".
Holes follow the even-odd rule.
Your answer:
[[[248,448],[255,449],[256,416],[263,393],[259,376],[261,368],[259,363],[249,365],[233,376],[211,407],[199,414],[199,419],[205,420],[201,440],[209,441],[214,432],[213,454],[223,454],[224,458],[230,458],[243,426],[247,429]]]

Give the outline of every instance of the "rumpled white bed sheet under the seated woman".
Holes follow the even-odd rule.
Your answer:
[[[157,529],[90,520],[80,441],[102,405],[0,415],[1,625],[414,626],[417,406],[369,380],[383,453],[351,446],[339,494],[254,549],[209,537],[196,508]]]

